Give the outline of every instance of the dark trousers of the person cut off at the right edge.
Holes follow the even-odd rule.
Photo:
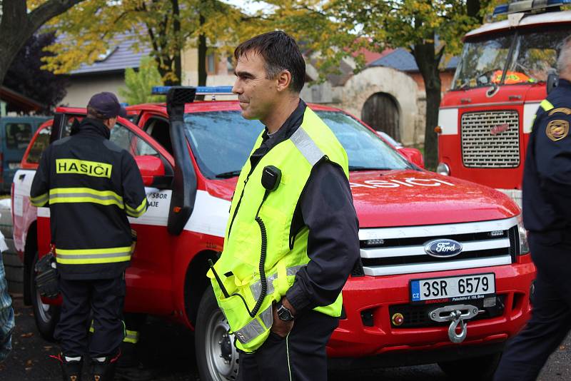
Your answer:
[[[531,233],[537,267],[532,317],[504,351],[494,380],[535,380],[571,329],[571,241],[561,234]]]

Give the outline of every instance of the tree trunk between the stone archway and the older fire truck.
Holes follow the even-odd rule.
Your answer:
[[[434,41],[434,35],[433,39]],[[416,64],[425,82],[426,91],[426,123],[424,137],[424,160],[426,168],[435,170],[438,165],[438,141],[434,128],[438,124],[438,108],[440,107],[440,70],[438,64],[443,51],[435,52],[433,42],[416,44],[413,49]]]

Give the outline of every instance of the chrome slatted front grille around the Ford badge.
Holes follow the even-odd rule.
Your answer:
[[[450,258],[428,255],[425,244],[440,238],[461,243],[463,251]],[[361,263],[353,268],[353,276],[507,265],[515,261],[519,252],[517,218],[449,225],[361,228],[359,240]]]

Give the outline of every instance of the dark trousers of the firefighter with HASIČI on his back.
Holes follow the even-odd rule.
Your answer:
[[[91,358],[115,355],[124,336],[123,275],[99,280],[60,278],[59,288],[64,302],[55,337],[64,355]],[[94,332],[89,337],[92,311]]]

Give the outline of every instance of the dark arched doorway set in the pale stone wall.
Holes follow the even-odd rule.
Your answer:
[[[374,93],[361,110],[361,119],[377,131],[400,141],[400,111],[396,99],[388,93]]]

